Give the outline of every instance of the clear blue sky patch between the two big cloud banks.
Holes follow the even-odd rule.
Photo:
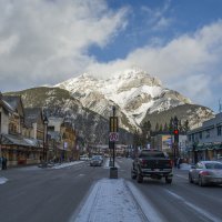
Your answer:
[[[102,62],[123,59],[135,48],[150,44],[157,38],[165,43],[180,34],[195,32],[218,21],[222,10],[220,0],[109,0],[108,4],[113,10],[129,7],[129,14],[127,28],[114,41],[102,49],[90,48],[89,53]]]

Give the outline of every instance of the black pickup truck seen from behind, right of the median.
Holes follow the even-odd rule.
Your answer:
[[[142,150],[134,159],[131,169],[131,178],[138,183],[143,182],[143,178],[165,179],[165,183],[172,183],[172,160],[162,151]]]

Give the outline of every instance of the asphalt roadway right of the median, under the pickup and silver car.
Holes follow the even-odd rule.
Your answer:
[[[130,169],[131,161],[118,160],[123,169]],[[141,191],[142,196],[154,209],[164,222],[221,222],[222,221],[222,186],[199,186],[190,184],[188,171],[174,170],[173,183],[165,184],[164,180],[145,180],[138,184],[130,179]]]

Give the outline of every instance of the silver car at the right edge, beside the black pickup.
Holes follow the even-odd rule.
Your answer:
[[[222,184],[222,162],[198,162],[189,171],[189,181],[190,183],[198,183],[201,186],[206,184]]]

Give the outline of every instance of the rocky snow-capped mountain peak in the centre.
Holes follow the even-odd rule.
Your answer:
[[[140,125],[147,114],[191,104],[190,99],[164,88],[158,78],[140,69],[124,70],[107,80],[83,73],[54,87],[70,91],[85,108],[105,118],[117,105],[125,129],[129,124]]]

